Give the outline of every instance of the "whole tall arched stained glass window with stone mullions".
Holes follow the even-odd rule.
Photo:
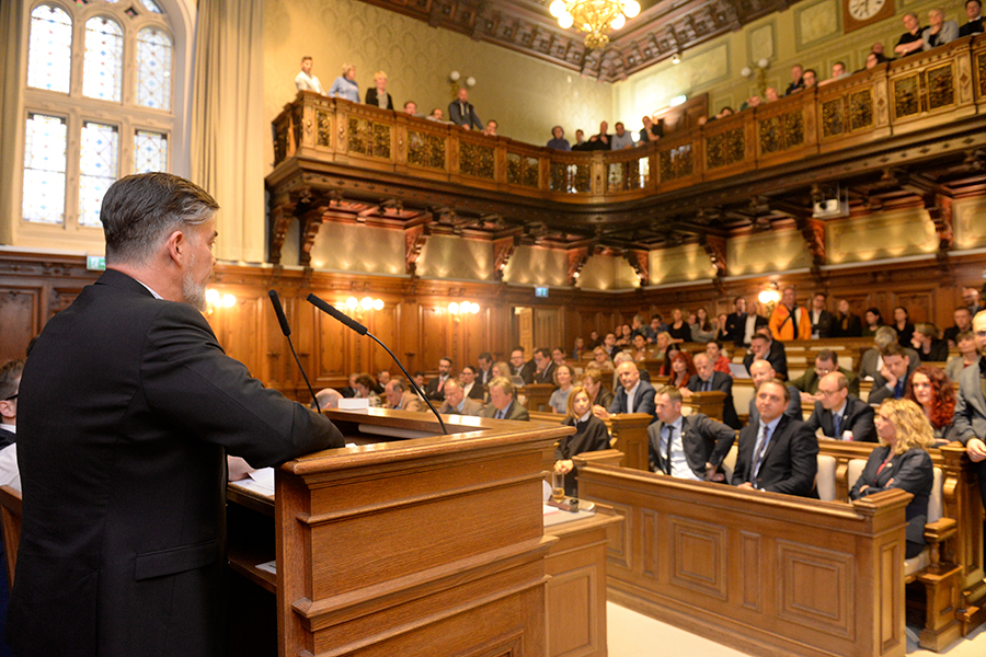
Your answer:
[[[30,16],[21,222],[100,229],[114,181],[171,169],[169,16],[154,0],[41,0]]]

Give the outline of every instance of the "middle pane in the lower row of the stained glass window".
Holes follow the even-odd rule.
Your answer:
[[[103,195],[116,181],[119,132],[116,126],[93,122],[82,124],[79,155],[79,224],[101,226]]]

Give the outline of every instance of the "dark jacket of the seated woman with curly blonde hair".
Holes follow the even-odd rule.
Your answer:
[[[931,497],[931,485],[935,483],[935,466],[931,456],[922,449],[909,449],[903,454],[896,454],[883,466],[880,474],[880,464],[890,454],[890,446],[881,445],[870,452],[867,466],[849,491],[850,499],[859,499],[873,493],[880,493],[888,488],[899,488],[914,495],[904,510],[907,518],[907,542],[918,545],[925,544],[925,522],[928,521],[928,500]],[[890,480],[892,485],[887,485]],[[860,492],[864,485],[869,486]],[[912,554],[907,555],[908,557]]]

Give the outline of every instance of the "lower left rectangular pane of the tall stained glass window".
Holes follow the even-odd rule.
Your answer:
[[[65,215],[64,118],[28,114],[24,130],[25,221],[61,223]]]

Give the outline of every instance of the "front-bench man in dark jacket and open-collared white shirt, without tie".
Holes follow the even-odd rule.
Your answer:
[[[697,482],[725,481],[720,466],[736,433],[701,413],[683,416],[681,392],[665,385],[654,395],[657,422],[647,427],[651,470]]]

